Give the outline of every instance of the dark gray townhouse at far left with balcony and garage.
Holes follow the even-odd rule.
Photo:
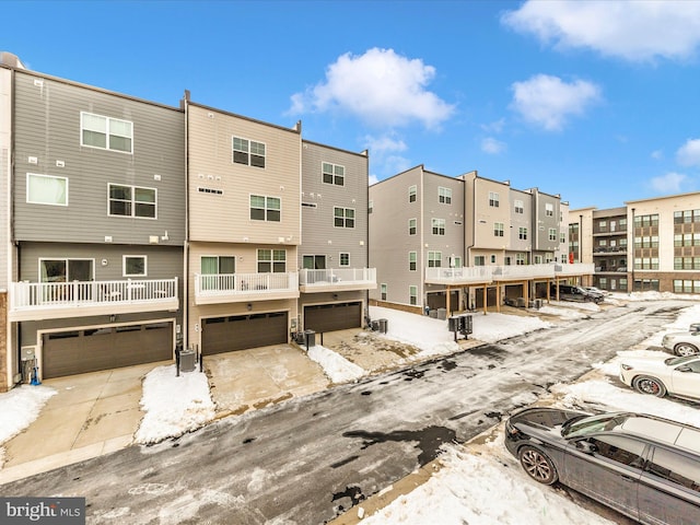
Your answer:
[[[2,383],[26,376],[30,358],[43,378],[172,359],[184,112],[18,62],[0,67]]]

